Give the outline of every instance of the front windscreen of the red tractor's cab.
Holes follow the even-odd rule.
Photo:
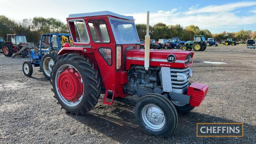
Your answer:
[[[140,43],[133,22],[110,19],[110,24],[117,44]]]

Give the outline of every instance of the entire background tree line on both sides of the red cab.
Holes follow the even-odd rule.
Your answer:
[[[215,40],[224,40],[233,38],[236,41],[246,41],[250,38],[256,38],[256,31],[240,30],[238,32],[226,32],[212,34],[207,29],[199,29],[198,26],[190,25],[183,27],[180,24],[166,25],[164,23],[157,23],[150,26],[151,39],[168,39],[172,37],[180,37],[181,40],[193,40],[194,35],[204,35],[207,38],[214,38]],[[136,24],[136,29],[139,38],[144,39],[146,35],[146,24]],[[69,33],[67,24],[55,18],[34,17],[32,19],[23,19],[15,21],[0,15],[0,37],[6,40],[7,34],[25,34],[27,42],[39,42],[43,33]]]

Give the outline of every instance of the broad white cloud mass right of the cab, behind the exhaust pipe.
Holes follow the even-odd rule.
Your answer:
[[[229,5],[229,7],[227,7]],[[256,15],[241,15],[239,12],[233,12],[240,7],[256,5],[256,2],[232,3],[218,6],[206,6],[198,9],[198,5],[192,6],[188,11],[172,9],[170,11],[158,11],[150,13],[150,24],[162,22],[167,25],[181,24],[189,26],[194,24],[200,29],[227,29],[245,26],[246,24],[256,24]],[[206,13],[202,11],[207,10]],[[222,8],[222,10],[217,10]],[[214,12],[214,10],[216,10]],[[209,13],[211,12],[211,13]],[[251,11],[256,13],[256,10]],[[126,14],[135,18],[135,23],[146,23],[146,13]],[[249,20],[248,20],[249,19]]]

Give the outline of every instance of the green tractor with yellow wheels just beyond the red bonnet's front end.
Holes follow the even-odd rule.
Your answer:
[[[181,47],[182,50],[204,51],[206,49],[206,40],[203,35],[194,35],[194,41],[185,42]]]

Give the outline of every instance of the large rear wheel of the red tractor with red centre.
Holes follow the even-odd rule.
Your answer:
[[[53,97],[67,113],[85,114],[98,103],[101,80],[88,58],[64,54],[55,61],[51,76]]]

